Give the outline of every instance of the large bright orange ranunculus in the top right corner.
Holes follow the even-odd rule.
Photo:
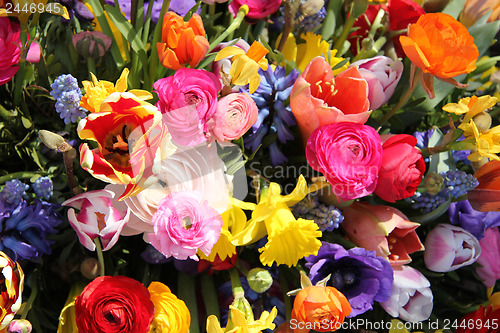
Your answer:
[[[448,14],[420,16],[416,23],[408,27],[408,36],[401,36],[399,40],[405,54],[422,69],[424,75],[434,75],[458,85],[453,77],[476,69],[479,51],[474,37],[462,23]],[[429,81],[428,78],[426,80]],[[432,83],[427,85],[433,95]]]

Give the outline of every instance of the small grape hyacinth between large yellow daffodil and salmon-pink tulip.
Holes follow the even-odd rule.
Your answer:
[[[326,206],[319,202],[317,195],[308,195],[292,206],[296,217],[314,220],[321,231],[333,231],[344,221],[344,216],[335,206]]]

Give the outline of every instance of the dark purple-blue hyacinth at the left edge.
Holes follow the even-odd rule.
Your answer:
[[[47,236],[61,223],[57,207],[39,200],[13,205],[0,198],[0,251],[15,261],[50,254],[52,241]]]

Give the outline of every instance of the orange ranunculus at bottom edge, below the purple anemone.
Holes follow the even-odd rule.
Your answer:
[[[299,331],[336,331],[349,313],[351,305],[340,291],[334,287],[309,286],[295,296],[290,327]]]

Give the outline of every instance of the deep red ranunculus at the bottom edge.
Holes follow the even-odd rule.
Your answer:
[[[75,302],[80,333],[149,332],[154,306],[148,289],[126,276],[101,276]]]

